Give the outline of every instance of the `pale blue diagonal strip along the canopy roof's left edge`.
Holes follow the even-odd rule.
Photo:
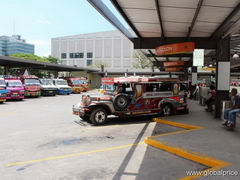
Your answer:
[[[108,7],[101,0],[87,0],[105,19],[107,19],[113,26],[121,31],[128,39],[131,40],[133,35],[127,28],[118,20],[118,18],[108,9]]]

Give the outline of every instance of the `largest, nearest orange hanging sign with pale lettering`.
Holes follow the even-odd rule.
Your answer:
[[[186,52],[193,52],[195,48],[194,42],[183,42],[176,44],[167,44],[155,48],[156,55],[180,54]]]

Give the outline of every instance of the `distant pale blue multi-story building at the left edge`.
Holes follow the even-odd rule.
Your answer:
[[[26,43],[20,35],[0,36],[0,56],[15,53],[34,54],[34,45]]]

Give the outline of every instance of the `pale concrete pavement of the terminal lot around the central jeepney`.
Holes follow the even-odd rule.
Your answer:
[[[156,124],[151,116],[111,118],[105,126],[91,126],[72,115],[72,105],[79,99],[79,94],[72,94],[29,98],[22,102],[10,101],[1,105],[1,180],[169,180],[184,177],[189,170],[206,169],[201,164],[144,143],[144,138],[148,136],[171,134],[180,128]],[[190,115],[169,118],[185,123],[187,119],[187,123],[202,125],[206,120],[203,122],[198,118],[194,121],[190,120],[191,117],[197,116],[197,111],[199,110],[195,109]],[[209,124],[209,128],[217,127],[213,123]],[[222,129],[213,133],[218,133],[218,136],[224,135],[220,134],[220,131]],[[215,156],[213,150],[202,146],[205,142],[205,134],[209,134],[207,129],[205,133],[201,133],[200,130],[191,133],[192,139],[185,134],[177,135],[177,139],[180,138],[178,141],[174,138],[176,136],[165,136],[163,140],[174,144],[181,142],[181,146]],[[198,136],[198,141],[195,136]],[[226,138],[229,138],[229,134]],[[237,137],[232,138],[231,143],[235,140]],[[211,139],[208,141],[213,142]],[[212,146],[216,145],[210,144],[209,148],[211,149]],[[225,158],[222,156],[226,149],[221,149],[219,152],[222,153],[221,156],[217,156],[218,159],[232,158],[229,154]],[[237,161],[236,157],[233,161]]]

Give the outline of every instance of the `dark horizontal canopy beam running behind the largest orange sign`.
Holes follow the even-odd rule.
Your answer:
[[[148,37],[148,38],[133,38],[134,49],[155,49],[157,46],[181,43],[191,41],[195,43],[195,48],[198,49],[216,49],[217,40],[208,37]]]

